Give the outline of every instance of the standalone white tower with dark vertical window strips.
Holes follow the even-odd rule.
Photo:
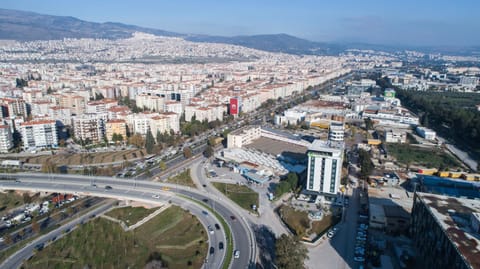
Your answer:
[[[343,143],[315,140],[307,151],[306,190],[331,199],[339,192]]]

